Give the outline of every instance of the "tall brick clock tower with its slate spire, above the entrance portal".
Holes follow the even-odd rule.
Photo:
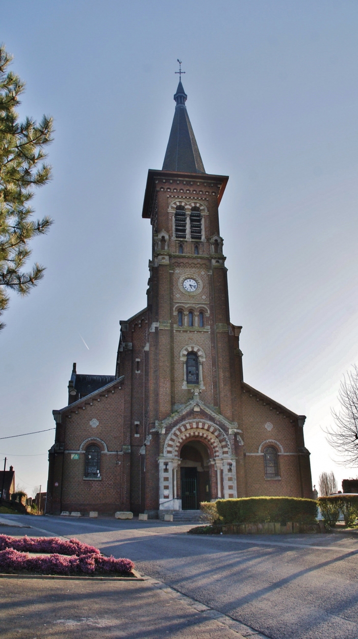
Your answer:
[[[157,458],[167,434],[161,424],[187,406],[197,413],[206,406],[227,420],[232,433],[239,432],[241,327],[230,323],[219,224],[228,177],[205,173],[187,97],[179,81],[163,168],[148,173],[142,212],[153,234],[147,290],[149,428],[159,433]],[[236,487],[232,490],[236,496]],[[216,488],[214,497],[219,493]],[[163,491],[163,502],[165,497]]]

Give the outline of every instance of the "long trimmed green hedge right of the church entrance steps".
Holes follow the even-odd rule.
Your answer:
[[[317,518],[317,502],[297,497],[244,497],[218,499],[218,514],[223,523],[264,523],[287,521],[313,523]]]

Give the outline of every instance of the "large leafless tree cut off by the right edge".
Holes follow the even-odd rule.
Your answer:
[[[353,366],[341,381],[338,412],[332,409],[334,426],[327,429],[327,442],[341,457],[338,463],[358,466],[358,367]]]

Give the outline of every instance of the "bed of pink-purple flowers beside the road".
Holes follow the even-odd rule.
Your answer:
[[[29,552],[50,554],[30,557]],[[98,548],[82,544],[78,539],[0,535],[0,571],[3,573],[129,576],[133,567],[130,559],[104,557]]]

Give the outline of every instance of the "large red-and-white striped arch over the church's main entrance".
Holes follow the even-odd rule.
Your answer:
[[[181,447],[190,439],[206,442],[213,450],[216,459],[232,456],[230,442],[220,426],[204,420],[190,420],[175,426],[165,440],[164,455],[177,458]]]

